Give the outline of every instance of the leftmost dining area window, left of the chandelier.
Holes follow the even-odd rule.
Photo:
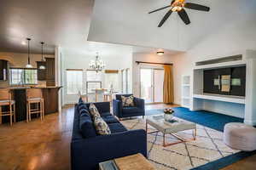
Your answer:
[[[67,70],[67,94],[79,94],[83,90],[83,70]]]

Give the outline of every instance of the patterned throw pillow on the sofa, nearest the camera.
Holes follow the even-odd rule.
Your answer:
[[[108,127],[107,122],[105,122],[101,116],[96,116],[94,119],[94,126],[96,128],[96,133],[100,135],[110,134],[111,131]]]

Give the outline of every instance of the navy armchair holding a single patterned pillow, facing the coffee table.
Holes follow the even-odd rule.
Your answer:
[[[129,97],[132,94],[116,94],[116,99],[113,99],[113,115],[119,118],[132,116],[145,116],[144,99],[134,98],[133,107],[123,107],[121,96]]]

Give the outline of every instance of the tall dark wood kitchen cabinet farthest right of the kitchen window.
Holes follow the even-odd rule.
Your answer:
[[[55,59],[46,58],[46,85],[55,86]]]

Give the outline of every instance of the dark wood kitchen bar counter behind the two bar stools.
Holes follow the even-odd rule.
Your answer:
[[[26,120],[26,89],[27,88],[41,88],[44,98],[44,115],[50,113],[58,112],[59,101],[58,101],[58,91],[62,87],[0,87],[0,88],[9,88],[13,91],[13,98],[15,100],[15,109],[16,109],[16,122]],[[2,108],[3,111],[8,109],[7,106]],[[0,118],[1,119],[1,118]],[[3,116],[2,122],[9,122],[9,116]],[[0,124],[2,123],[0,120]]]

